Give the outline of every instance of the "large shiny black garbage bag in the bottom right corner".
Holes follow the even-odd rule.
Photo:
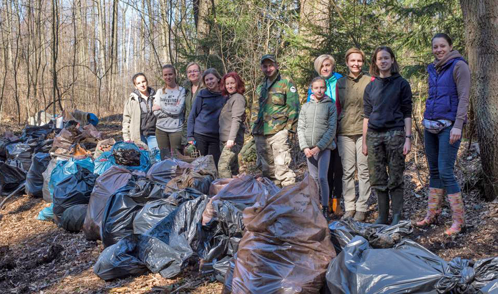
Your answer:
[[[449,263],[412,240],[375,249],[354,237],[330,263],[331,293],[479,293],[498,277],[498,258]]]

